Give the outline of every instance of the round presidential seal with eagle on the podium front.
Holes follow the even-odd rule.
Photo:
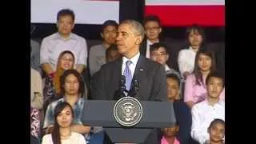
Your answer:
[[[122,126],[134,126],[142,119],[142,104],[133,97],[123,97],[114,105],[114,118]]]

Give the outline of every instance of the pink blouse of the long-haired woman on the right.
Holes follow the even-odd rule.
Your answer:
[[[203,79],[206,81],[206,79]],[[192,101],[194,103],[202,102],[206,99],[206,85],[201,86],[196,84],[194,74],[190,74],[186,78],[185,89],[184,89],[184,102]],[[220,98],[225,101],[225,88],[222,90]]]

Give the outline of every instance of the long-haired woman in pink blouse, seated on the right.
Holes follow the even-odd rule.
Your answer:
[[[216,70],[214,53],[202,47],[198,50],[194,62],[194,73],[186,78],[184,89],[184,102],[190,108],[198,102],[206,99],[206,77]],[[225,89],[222,91],[221,98],[225,99]]]

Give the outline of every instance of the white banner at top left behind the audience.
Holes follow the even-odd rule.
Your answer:
[[[119,21],[119,1],[31,0],[32,23],[56,23],[59,10],[74,10],[75,23],[102,24]]]

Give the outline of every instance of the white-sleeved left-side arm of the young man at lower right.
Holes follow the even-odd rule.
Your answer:
[[[202,122],[200,121],[200,115],[198,114],[198,107],[193,106],[191,109],[191,114],[191,138],[200,143],[204,143],[206,140],[209,140],[209,134],[206,133],[207,130],[202,130]]]

